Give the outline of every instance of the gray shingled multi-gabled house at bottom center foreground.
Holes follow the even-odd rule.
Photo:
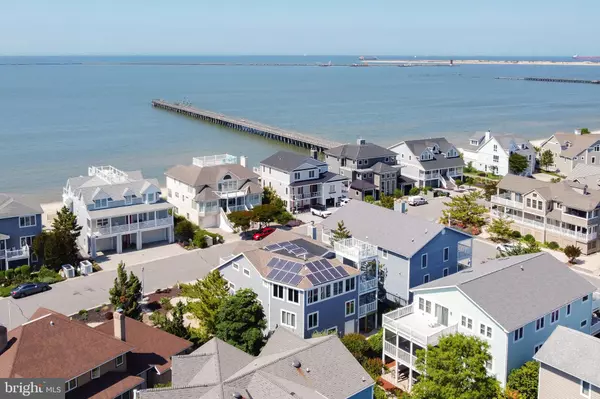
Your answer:
[[[373,379],[336,336],[301,339],[278,328],[254,357],[213,338],[173,357],[173,386],[138,399],[372,399]]]

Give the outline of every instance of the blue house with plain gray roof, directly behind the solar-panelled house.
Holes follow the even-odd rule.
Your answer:
[[[471,265],[472,237],[462,231],[361,201],[350,201],[321,224],[331,243],[338,222],[352,237],[377,247],[387,300],[406,305],[410,290]],[[337,243],[336,243],[337,244]]]

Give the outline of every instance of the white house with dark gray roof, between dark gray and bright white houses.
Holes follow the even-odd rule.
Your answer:
[[[398,154],[402,176],[416,181],[417,187],[456,188],[462,180],[465,163],[456,147],[443,137],[406,140],[389,148]]]

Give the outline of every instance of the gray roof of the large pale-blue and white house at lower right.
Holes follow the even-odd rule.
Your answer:
[[[462,291],[507,332],[596,290],[546,252],[495,259],[412,291],[442,287]]]

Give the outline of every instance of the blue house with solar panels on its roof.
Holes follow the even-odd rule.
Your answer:
[[[310,338],[377,326],[377,247],[348,239],[328,248],[277,231],[260,248],[248,248],[218,266],[232,292],[257,293],[269,331],[282,326]]]

